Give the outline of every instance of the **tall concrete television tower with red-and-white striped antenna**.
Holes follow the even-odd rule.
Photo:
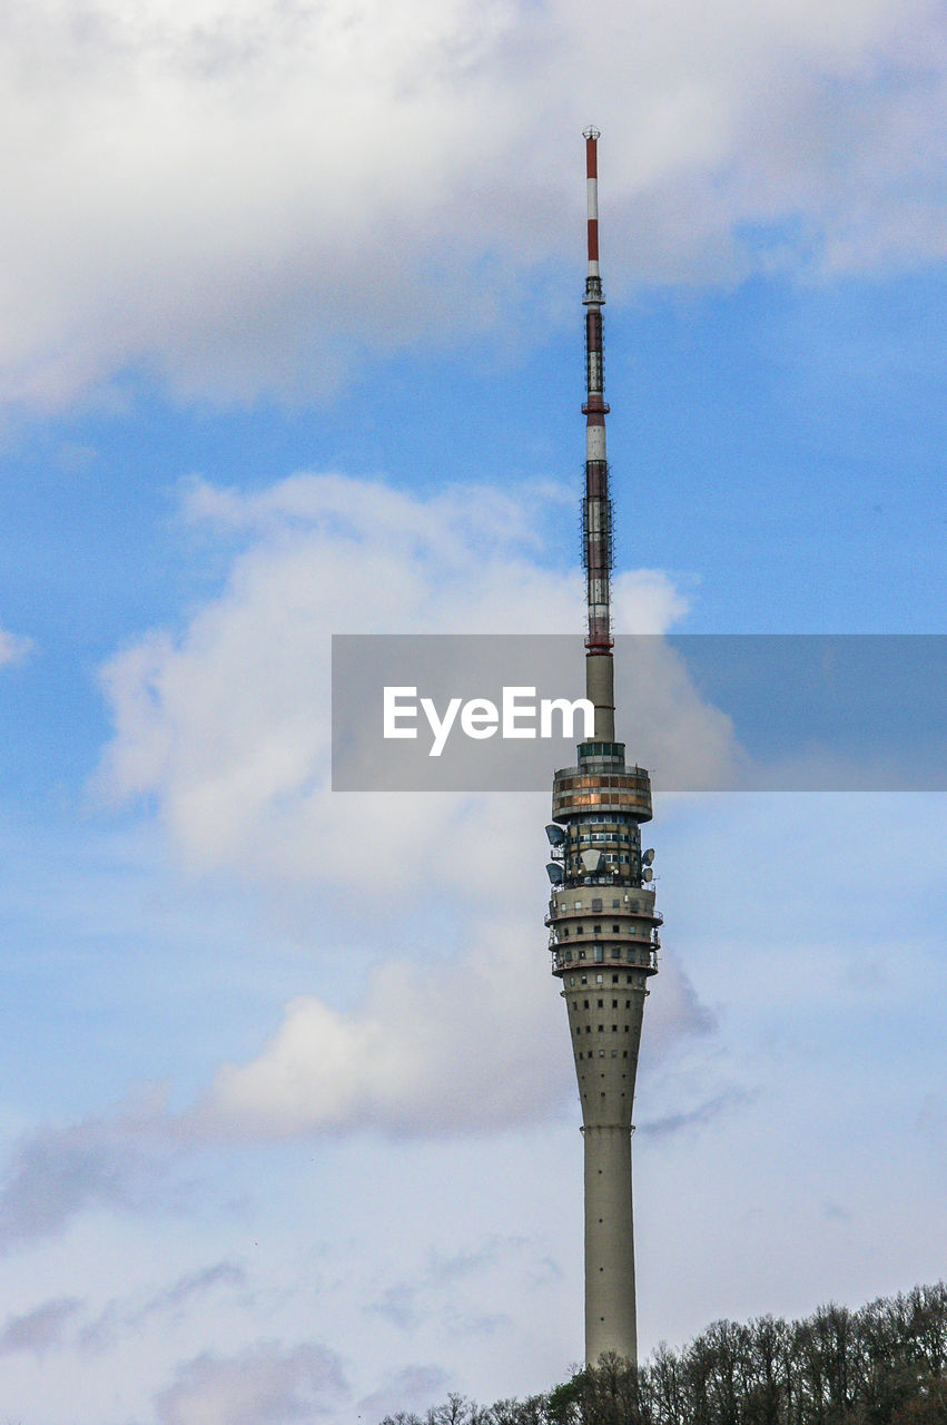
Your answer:
[[[615,741],[609,610],[612,517],[605,455],[602,282],[598,271],[598,130],[585,130],[588,276],[585,278],[585,496],[582,537],[588,601],[585,691],[595,735],[577,767],[555,772],[547,835],[553,975],[563,983],[582,1104],[585,1146],[585,1359],[605,1351],[637,1359],[631,1206],[631,1109],[648,978],[658,969],[651,781]]]

